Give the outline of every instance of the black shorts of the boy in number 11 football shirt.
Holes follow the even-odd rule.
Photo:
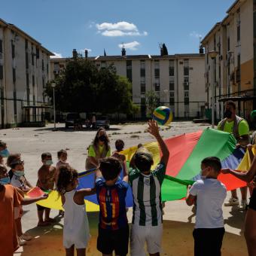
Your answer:
[[[129,226],[120,230],[105,230],[99,227],[97,249],[102,254],[115,254],[125,256],[128,254]]]

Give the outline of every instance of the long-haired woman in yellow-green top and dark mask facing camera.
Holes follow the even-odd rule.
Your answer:
[[[96,133],[93,143],[88,148],[88,157],[85,169],[93,169],[99,166],[99,160],[111,155],[108,135],[102,127]]]

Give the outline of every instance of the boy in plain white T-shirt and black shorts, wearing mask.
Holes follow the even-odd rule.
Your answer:
[[[194,255],[219,256],[225,233],[222,205],[227,196],[226,187],[217,180],[221,161],[218,157],[206,157],[201,169],[203,179],[192,185],[186,199],[188,206],[197,201]]]

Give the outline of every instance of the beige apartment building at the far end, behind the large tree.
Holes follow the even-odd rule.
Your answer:
[[[203,50],[203,49],[201,49]],[[73,50],[74,54],[75,50]],[[76,54],[76,53],[75,53]],[[87,53],[86,53],[87,57]],[[146,114],[146,93],[153,90],[159,96],[159,105],[172,109],[176,118],[204,115],[204,54],[188,53],[166,56],[126,55],[87,57],[100,68],[114,65],[117,75],[133,84],[133,103],[139,105],[138,117]],[[65,69],[66,58],[50,59],[51,79]]]

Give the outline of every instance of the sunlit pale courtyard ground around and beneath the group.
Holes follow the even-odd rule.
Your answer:
[[[172,122],[171,128],[161,130],[164,139],[182,133],[195,132],[209,127],[206,123],[192,123],[189,121]],[[125,148],[139,143],[152,142],[154,138],[146,130],[145,123],[134,123],[126,125],[112,125],[108,130],[111,139],[111,149],[114,150],[116,139],[123,139]],[[17,128],[0,130],[0,137],[8,143],[11,152],[22,153],[25,160],[26,177],[32,184],[36,184],[37,171],[41,166],[41,153],[50,151],[53,162],[56,163],[56,152],[59,149],[68,151],[68,160],[79,171],[84,170],[87,157],[87,147],[92,142],[96,131],[66,130],[64,124],[57,124],[58,131],[53,132],[53,125],[43,128]],[[228,194],[228,197],[230,194]],[[51,217],[57,215],[56,210],[51,211]],[[131,221],[131,209],[128,212]],[[100,255],[96,250],[98,213],[88,213],[90,221],[90,233],[92,238],[87,248],[87,255]],[[183,200],[166,203],[165,215],[163,216],[163,255],[193,255],[194,240],[192,231],[195,216],[190,207]],[[237,211],[236,208],[224,207],[224,219],[226,234],[223,243],[224,256],[247,255],[243,227],[245,213]],[[63,219],[50,227],[36,227],[38,218],[35,205],[25,206],[23,215],[23,231],[27,231],[34,237],[27,245],[20,248],[14,255],[63,255],[62,247],[62,225]]]

